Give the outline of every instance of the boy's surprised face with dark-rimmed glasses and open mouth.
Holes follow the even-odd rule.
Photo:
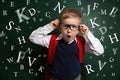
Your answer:
[[[67,18],[60,24],[60,31],[66,42],[75,39],[76,35],[79,33],[79,25],[79,18]]]

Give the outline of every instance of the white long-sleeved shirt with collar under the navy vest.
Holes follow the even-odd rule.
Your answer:
[[[29,40],[35,44],[49,48],[51,35],[48,34],[53,30],[54,29],[49,24],[39,27],[31,33]],[[104,48],[101,42],[90,31],[88,34],[83,35],[83,37],[85,38],[85,51],[95,55],[101,55],[104,53]],[[62,38],[63,36],[60,34],[57,40]]]

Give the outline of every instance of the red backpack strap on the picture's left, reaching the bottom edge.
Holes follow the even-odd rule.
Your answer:
[[[58,35],[53,34],[51,36],[50,42],[49,42],[49,49],[48,49],[48,55],[47,55],[47,62],[46,62],[46,72],[45,72],[45,80],[50,80],[50,71],[49,71],[49,64],[52,64],[52,61],[54,59],[54,54],[56,50],[56,46],[58,44],[58,41],[56,40]]]

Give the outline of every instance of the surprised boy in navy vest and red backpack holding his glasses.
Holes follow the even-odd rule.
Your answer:
[[[48,35],[56,28],[60,30],[60,35]],[[83,36],[77,36],[79,32]],[[64,9],[59,20],[36,29],[29,39],[49,49],[47,67],[50,80],[80,80],[84,51],[95,55],[104,53],[100,41],[85,24],[81,24],[81,14],[73,8]]]

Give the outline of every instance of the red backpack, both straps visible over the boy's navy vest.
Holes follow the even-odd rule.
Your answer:
[[[48,65],[52,64],[52,61],[54,59],[55,50],[56,50],[56,47],[57,47],[57,44],[58,44],[58,40],[56,40],[57,37],[58,37],[57,34],[53,34],[51,36],[51,39],[50,39],[48,56],[47,56],[47,63],[46,63],[47,71],[46,71],[46,74],[45,74],[45,80],[50,80],[50,72],[49,72],[49,69],[48,69]],[[85,39],[82,36],[76,36],[76,40],[77,40],[78,48],[80,50],[80,52],[79,52],[79,62],[80,62],[80,64],[82,64],[83,61],[84,61]]]

